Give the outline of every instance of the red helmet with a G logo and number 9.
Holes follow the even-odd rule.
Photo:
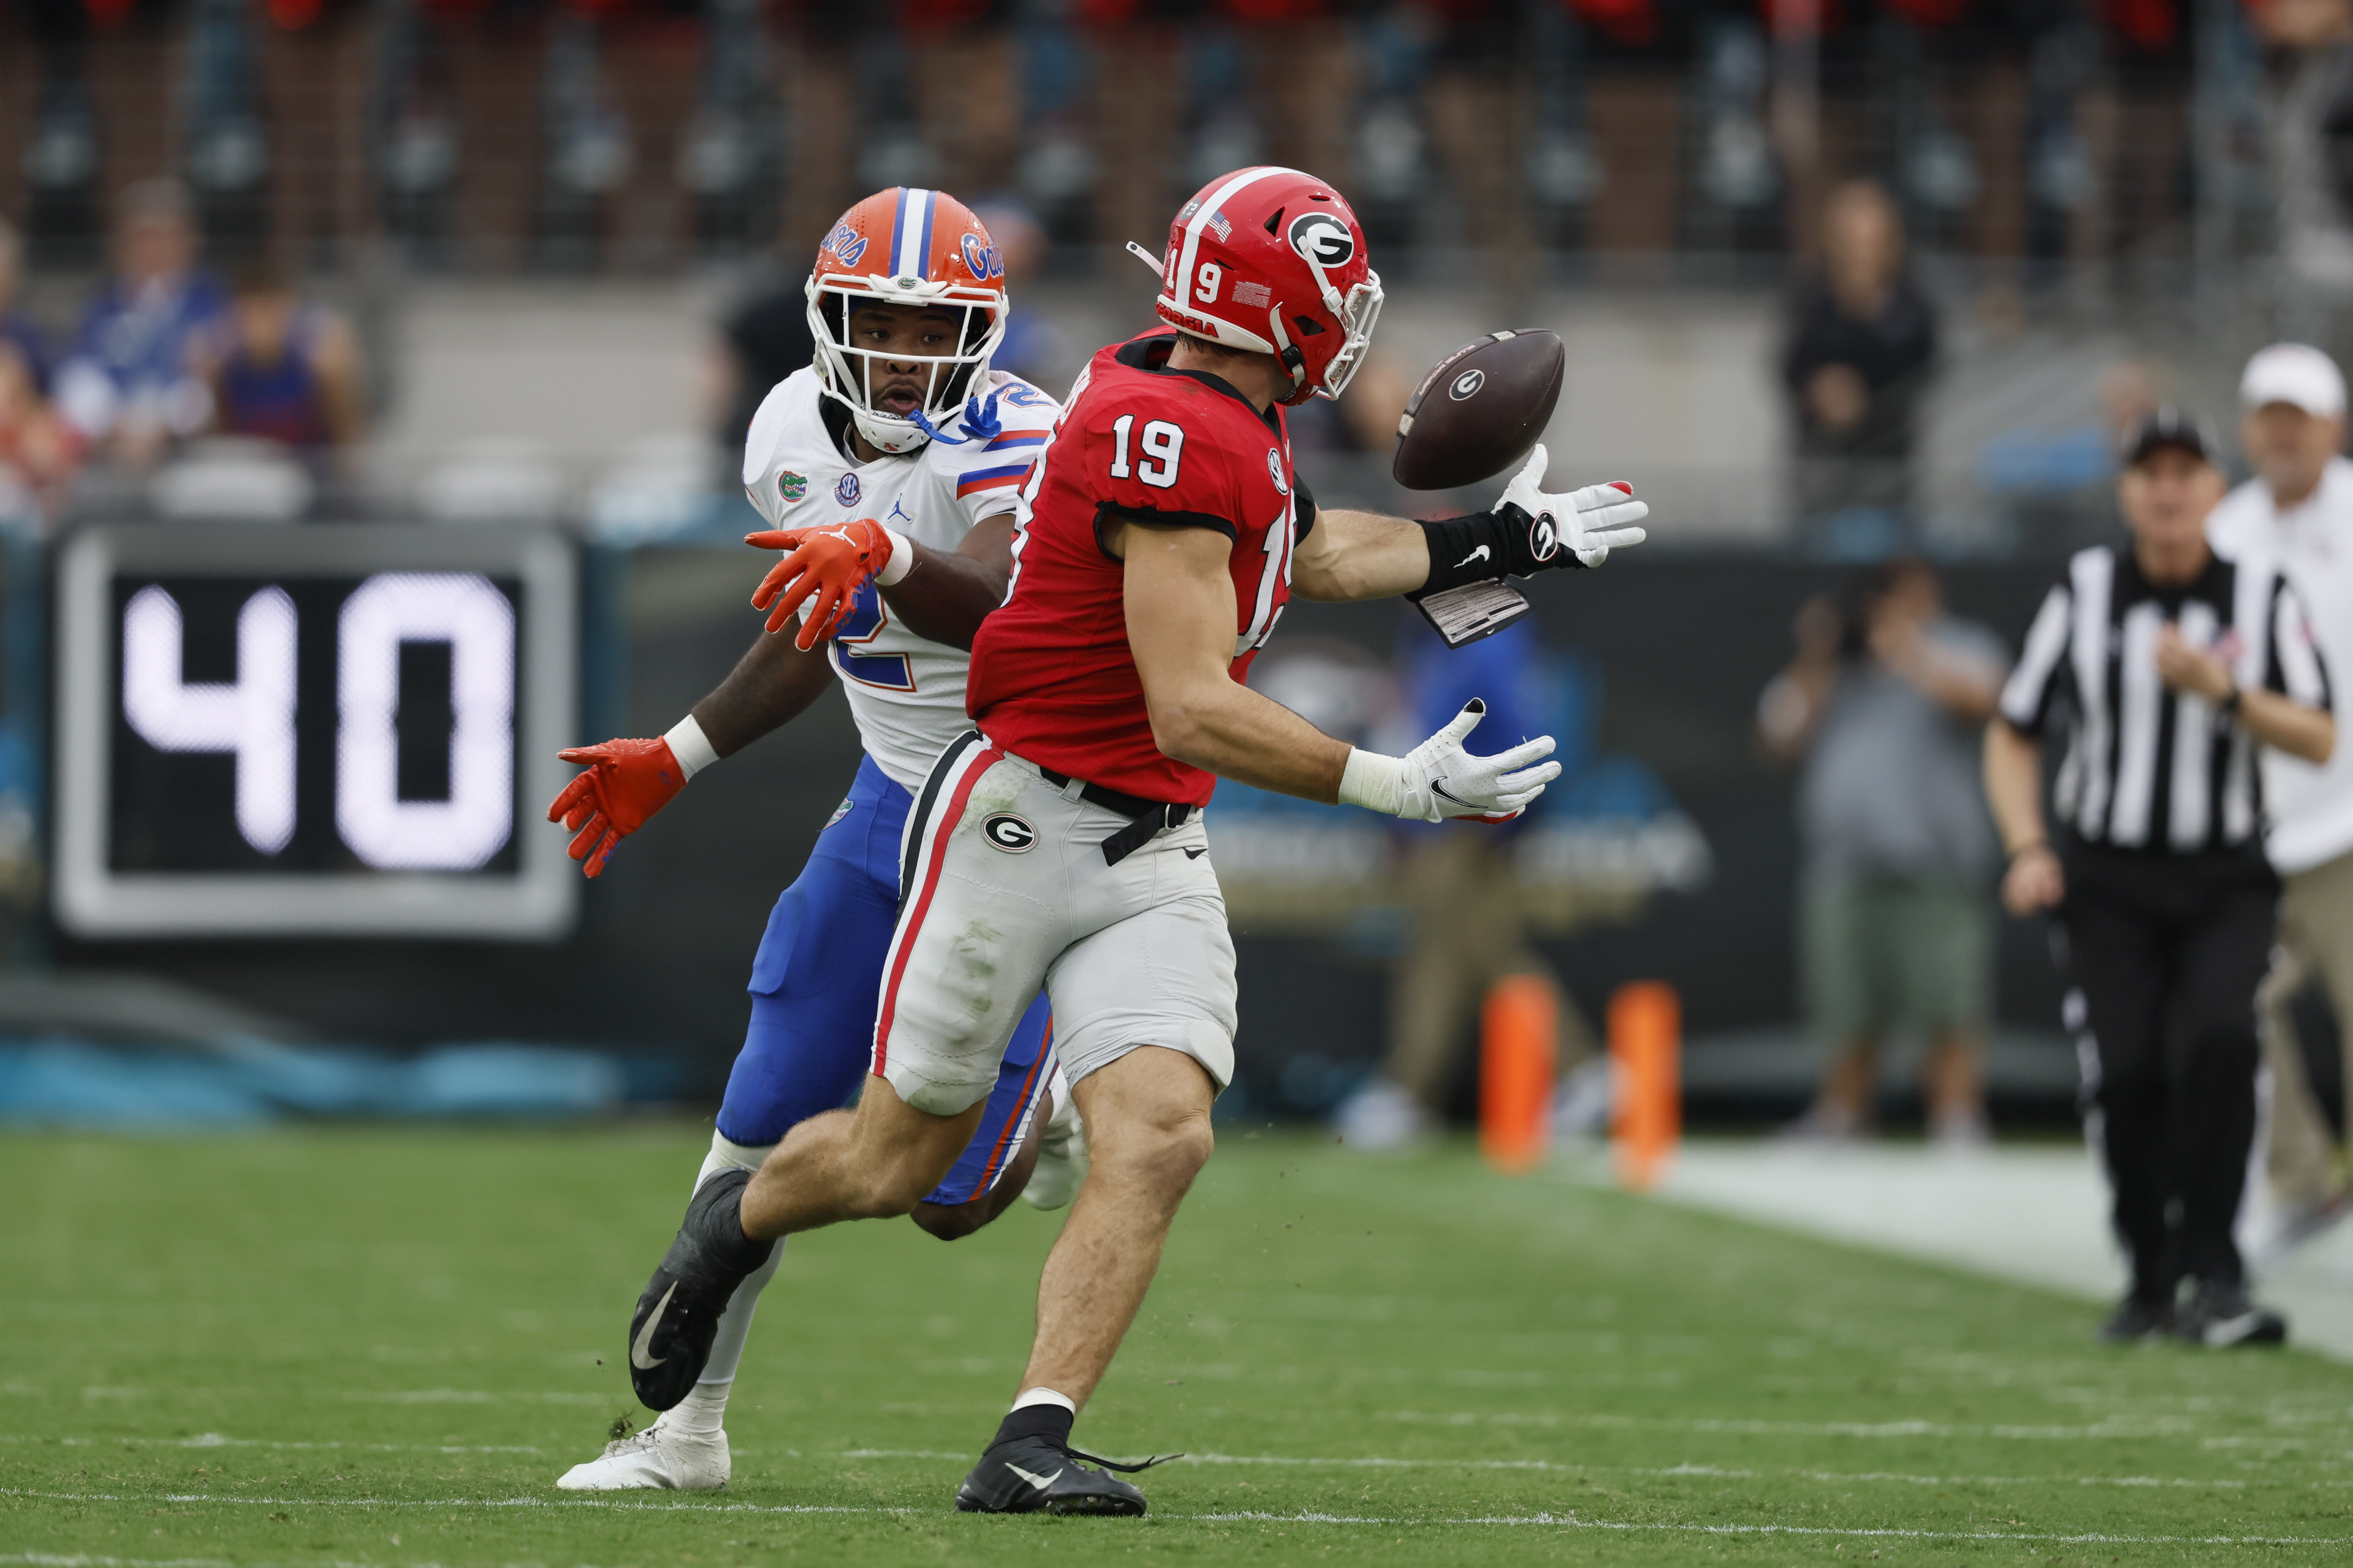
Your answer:
[[[1355,212],[1313,174],[1271,165],[1214,179],[1184,205],[1160,282],[1160,320],[1275,355],[1292,376],[1287,404],[1339,397],[1381,317]]]

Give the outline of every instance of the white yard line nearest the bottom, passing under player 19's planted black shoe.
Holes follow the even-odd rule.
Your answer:
[[[129,1505],[191,1505],[212,1502],[228,1507],[332,1507],[332,1509],[602,1509],[642,1514],[849,1514],[849,1516],[939,1516],[948,1509],[911,1507],[847,1507],[847,1505],[791,1505],[791,1502],[609,1502],[581,1497],[555,1502],[548,1497],[221,1497],[212,1493],[165,1493],[139,1497],[125,1493],[40,1493],[0,1486],[0,1497],[28,1497],[38,1502],[129,1502]],[[1158,1514],[1167,1521],[1188,1523],[1327,1523],[1327,1526],[1377,1526],[1426,1528],[1426,1526],[1544,1526],[1555,1530],[1628,1530],[1661,1535],[1807,1535],[1826,1540],[2017,1540],[2049,1544],[2101,1544],[2101,1547],[2353,1547],[2353,1535],[2064,1535],[2042,1530],[1901,1530],[1901,1528],[1840,1528],[1840,1526],[1779,1526],[1779,1523],[1645,1523],[1624,1519],[1584,1519],[1579,1514],[1471,1514],[1440,1519],[1398,1519],[1391,1514],[1275,1514],[1275,1512],[1214,1512],[1214,1514]]]

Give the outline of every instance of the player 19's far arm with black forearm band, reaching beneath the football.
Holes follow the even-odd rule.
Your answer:
[[[1292,590],[1304,599],[1384,599],[1442,592],[1466,583],[1534,576],[1553,567],[1600,567],[1609,550],[1638,545],[1649,505],[1624,482],[1577,491],[1544,489],[1539,444],[1504,487],[1494,510],[1438,522],[1379,512],[1318,510],[1292,555]]]

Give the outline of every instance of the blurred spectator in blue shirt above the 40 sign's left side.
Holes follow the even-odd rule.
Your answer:
[[[195,226],[179,181],[129,186],[115,205],[115,275],[82,317],[56,371],[66,418],[120,463],[153,468],[212,421],[188,346],[219,317],[221,289],[195,268]]]

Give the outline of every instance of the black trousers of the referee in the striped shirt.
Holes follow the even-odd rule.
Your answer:
[[[2132,1293],[2238,1284],[2231,1227],[2254,1145],[2254,987],[2280,884],[2259,851],[2068,842],[2066,966],[2097,1046],[2099,1143]]]

